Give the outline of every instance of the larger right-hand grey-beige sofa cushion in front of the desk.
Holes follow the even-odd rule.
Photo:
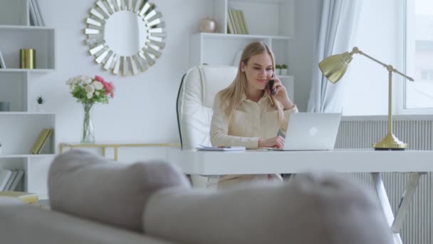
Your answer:
[[[163,190],[143,215],[150,235],[179,243],[391,244],[380,205],[333,174],[230,190]]]

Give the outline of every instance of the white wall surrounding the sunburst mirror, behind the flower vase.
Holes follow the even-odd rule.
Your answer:
[[[46,111],[57,114],[58,142],[80,141],[83,108],[69,93],[72,76],[100,75],[116,86],[115,98],[93,108],[98,143],[177,143],[175,100],[189,68],[189,36],[207,16],[209,1],[153,1],[167,24],[167,46],[145,73],[114,76],[93,61],[85,46],[85,19],[94,1],[39,0],[46,26],[56,28],[57,70],[32,75],[30,98],[46,97]]]

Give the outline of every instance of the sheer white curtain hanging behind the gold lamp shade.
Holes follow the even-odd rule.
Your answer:
[[[352,49],[360,7],[360,0],[323,0],[308,112],[340,113],[343,108],[344,77],[338,83],[330,83],[320,72],[318,63],[328,56]]]

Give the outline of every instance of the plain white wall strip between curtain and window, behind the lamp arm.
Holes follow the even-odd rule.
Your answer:
[[[358,46],[365,54],[404,72],[401,65],[402,20],[399,19],[398,12],[401,6],[402,0],[363,0],[354,46]],[[393,81],[395,86],[402,82],[400,76],[395,73]],[[345,116],[387,114],[388,72],[383,66],[355,54],[348,73],[339,82],[345,82]],[[394,92],[393,96],[402,98],[397,92]]]

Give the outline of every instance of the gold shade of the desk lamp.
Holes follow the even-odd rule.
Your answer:
[[[352,55],[348,52],[336,54],[323,59],[319,63],[320,71],[332,83],[340,81],[348,69],[348,64],[352,61]]]

